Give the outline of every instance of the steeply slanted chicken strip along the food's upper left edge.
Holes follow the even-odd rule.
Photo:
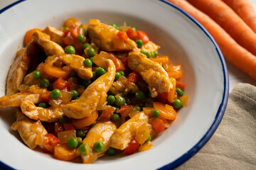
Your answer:
[[[21,85],[23,78],[32,63],[33,57],[38,56],[40,48],[36,42],[30,42],[22,52],[17,52],[14,63],[11,64],[6,83],[6,94],[12,95],[18,92],[18,87]],[[35,63],[33,63],[35,64]]]

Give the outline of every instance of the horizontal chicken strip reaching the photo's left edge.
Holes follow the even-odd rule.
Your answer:
[[[2,96],[0,98],[0,108],[20,107],[23,101],[40,103],[40,94],[18,93],[11,96]]]

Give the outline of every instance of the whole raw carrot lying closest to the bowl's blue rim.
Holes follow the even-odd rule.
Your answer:
[[[183,8],[193,18],[201,23],[206,30],[213,36],[218,43],[220,50],[223,52],[225,60],[238,67],[243,72],[247,73],[253,79],[256,79],[256,57],[245,48],[238,45],[228,33],[223,30],[215,21],[208,17],[205,13],[202,13],[197,8],[193,7],[187,1],[184,0],[168,0],[171,3]]]

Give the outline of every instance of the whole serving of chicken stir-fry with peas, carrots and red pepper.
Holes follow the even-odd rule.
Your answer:
[[[24,45],[0,108],[14,107],[11,128],[56,159],[150,149],[188,103],[181,65],[142,30],[68,18],[62,30],[29,30]]]

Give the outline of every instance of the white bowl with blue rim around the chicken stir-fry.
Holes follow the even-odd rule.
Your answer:
[[[82,23],[98,18],[144,30],[181,64],[189,95],[188,106],[178,111],[171,127],[153,141],[154,147],[127,157],[102,157],[94,164],[76,164],[53,159],[21,142],[10,129],[14,116],[0,113],[0,166],[6,169],[173,169],[196,154],[208,142],[223,117],[228,101],[228,73],[223,55],[203,26],[180,8],[166,1],[58,0],[18,1],[0,11],[0,95],[23,35],[31,28],[60,28],[66,18]]]

